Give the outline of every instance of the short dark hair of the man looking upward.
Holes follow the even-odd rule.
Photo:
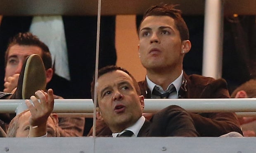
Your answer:
[[[187,24],[185,23],[183,17],[181,16],[182,12],[180,9],[175,9],[177,5],[171,4],[159,4],[156,6],[152,6],[144,13],[141,23],[147,16],[170,16],[175,21],[175,26],[180,32],[180,39],[188,40],[189,39],[189,31],[187,28]],[[138,28],[138,33],[140,32],[140,26]]]

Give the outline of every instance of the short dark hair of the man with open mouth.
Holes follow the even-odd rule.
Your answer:
[[[137,83],[137,81],[135,80],[135,78],[133,77],[132,74],[130,74],[127,70],[123,69],[122,67],[117,67],[115,65],[109,65],[109,66],[106,66],[106,67],[102,67],[99,71],[98,71],[98,78],[100,76],[102,76],[103,74],[106,74],[106,73],[109,73],[109,72],[113,72],[113,71],[116,71],[116,70],[121,70],[125,73],[127,73],[133,80],[133,85],[135,87],[135,90],[137,92],[138,95],[141,95],[140,93],[140,87]],[[93,102],[95,101],[94,100],[94,86],[95,86],[95,75],[93,76],[93,80],[92,80],[92,83],[91,83],[91,96],[92,96],[92,100]],[[98,106],[98,104],[97,104]]]

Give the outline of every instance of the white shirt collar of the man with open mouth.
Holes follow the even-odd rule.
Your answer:
[[[135,124],[133,124],[132,126],[126,128],[122,132],[112,133],[112,136],[113,137],[117,137],[119,134],[122,134],[123,132],[126,132],[127,130],[129,130],[129,131],[132,131],[133,134],[134,134],[132,137],[137,137],[137,135],[140,132],[140,129],[141,129],[142,125],[145,123],[145,120],[146,120],[145,117],[141,116]]]

